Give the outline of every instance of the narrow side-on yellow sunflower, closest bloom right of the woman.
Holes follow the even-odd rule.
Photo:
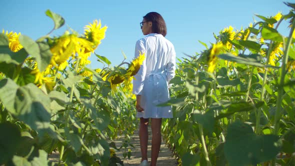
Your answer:
[[[220,53],[223,45],[221,42],[213,44],[212,47],[209,49],[209,56],[208,56],[208,72],[213,72],[217,62],[217,55]]]

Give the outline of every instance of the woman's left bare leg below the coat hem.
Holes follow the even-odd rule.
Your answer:
[[[141,161],[147,160],[147,132],[148,118],[140,117],[139,124],[139,142],[140,142],[140,151],[141,151]]]

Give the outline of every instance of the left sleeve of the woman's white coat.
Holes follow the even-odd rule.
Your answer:
[[[134,52],[134,57],[137,58],[139,54],[144,53],[146,57],[146,50],[143,44],[142,40],[138,40],[135,44],[135,52]],[[145,78],[145,73],[146,73],[146,58],[144,58],[142,64],[140,65],[140,68],[138,72],[134,75],[133,79],[133,94],[141,94],[142,88],[143,88],[143,81]]]

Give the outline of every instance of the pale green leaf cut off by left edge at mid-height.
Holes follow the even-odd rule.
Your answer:
[[[18,85],[10,78],[0,80],[0,100],[5,108],[15,114],[14,102]]]

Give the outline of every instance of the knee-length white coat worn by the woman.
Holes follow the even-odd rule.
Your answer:
[[[168,82],[175,75],[176,53],[173,44],[162,34],[150,33],[137,40],[135,57],[139,52],[145,54],[145,60],[134,75],[134,94],[141,94],[140,106],[144,112],[137,112],[137,117],[171,118],[172,106],[156,106],[167,101]]]

